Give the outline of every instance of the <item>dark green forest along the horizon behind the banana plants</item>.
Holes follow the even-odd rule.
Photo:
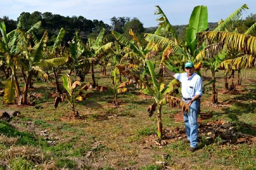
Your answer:
[[[111,35],[111,30],[115,30],[119,32],[128,39],[131,39],[129,36],[129,29],[133,29],[136,33],[137,37],[141,40],[141,42],[145,42],[143,39],[144,33],[153,33],[157,26],[144,28],[143,23],[140,22],[138,18],[130,18],[130,17],[112,17],[111,25],[104,23],[102,20],[88,20],[83,16],[73,16],[73,17],[64,17],[59,14],[52,14],[51,12],[38,12],[35,11],[32,14],[29,12],[22,12],[20,17],[16,20],[9,19],[9,17],[4,16],[0,18],[0,22],[4,21],[6,25],[6,32],[10,32],[17,28],[17,23],[19,20],[22,22],[23,29],[26,31],[31,28],[32,25],[37,23],[38,21],[42,22],[41,29],[38,31],[38,37],[41,37],[44,33],[44,30],[47,30],[48,35],[50,37],[48,41],[48,45],[52,45],[55,37],[57,36],[59,30],[63,27],[66,30],[66,34],[64,37],[64,45],[67,45],[68,41],[72,40],[75,32],[79,32],[81,39],[86,41],[88,37],[95,38],[99,34],[102,27],[105,28],[105,37],[106,41],[113,41],[114,37]],[[220,19],[221,20],[221,19]],[[256,14],[250,14],[244,20],[237,21],[233,28],[237,28],[237,32],[244,33],[253,23],[256,22]],[[213,30],[218,23],[208,23],[208,31]],[[175,25],[177,33],[185,38],[187,25]],[[230,28],[230,30],[233,30]]]

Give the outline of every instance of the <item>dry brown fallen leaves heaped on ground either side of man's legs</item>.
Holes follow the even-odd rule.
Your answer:
[[[198,123],[198,140],[207,142],[208,144],[252,144],[256,143],[256,137],[241,132],[237,132],[235,125],[230,122],[215,121],[209,123]],[[160,140],[156,133],[150,134],[143,138],[141,144],[143,149],[163,148],[170,144],[173,140],[186,139],[185,129],[178,127],[174,129],[166,128],[163,130],[163,138]]]

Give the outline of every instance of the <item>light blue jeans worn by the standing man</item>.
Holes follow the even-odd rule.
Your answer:
[[[183,100],[184,101],[184,100]],[[186,103],[188,101],[185,101]],[[186,135],[190,141],[190,147],[198,147],[198,110],[200,107],[200,101],[195,100],[189,107],[189,113],[183,113]]]

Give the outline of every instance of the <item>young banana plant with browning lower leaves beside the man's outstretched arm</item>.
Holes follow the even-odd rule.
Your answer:
[[[185,102],[181,101],[174,96],[167,96],[170,92],[174,93],[175,86],[177,86],[178,82],[176,79],[171,81],[167,86],[166,84],[159,78],[157,81],[154,69],[155,65],[150,60],[145,60],[145,63],[148,67],[148,72],[151,76],[153,86],[146,85],[146,88],[142,90],[144,94],[152,95],[154,97],[155,102],[148,107],[149,116],[152,116],[154,111],[157,110],[157,135],[161,139],[163,137],[163,123],[162,123],[162,106],[169,102],[169,105],[172,107],[180,106],[182,107],[184,112],[188,112],[188,105],[183,104]]]

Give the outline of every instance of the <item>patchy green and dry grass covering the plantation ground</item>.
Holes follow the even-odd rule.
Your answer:
[[[229,121],[235,125],[236,131],[256,136],[256,79],[249,75],[243,80],[243,86],[237,87],[238,91],[224,93],[221,76],[222,72],[218,72],[218,99],[220,104],[230,107],[210,105],[210,91],[206,90],[201,112],[208,117],[199,117],[205,123]],[[96,79],[99,85],[111,86],[109,76],[96,72]],[[85,77],[84,84],[88,81],[90,75]],[[218,136],[211,142],[203,136],[199,142],[201,149],[195,153],[189,153],[189,144],[178,138],[168,140],[163,147],[157,146],[150,141],[153,139],[151,135],[157,132],[156,114],[150,118],[147,113],[147,107],[154,99],[141,95],[133,86],[129,87],[129,92],[118,96],[119,107],[111,104],[111,89],[102,93],[91,91],[90,98],[76,103],[82,118],[71,120],[67,118],[70,114],[68,103],[60,103],[55,109],[54,97],[51,97],[55,87],[52,84],[35,82],[34,86],[35,89],[29,89],[29,92],[41,96],[35,99],[35,106],[18,107],[0,102],[1,109],[21,112],[20,117],[10,122],[0,121],[0,170],[7,166],[14,170],[163,169],[163,164],[157,164],[157,161],[165,162],[165,166],[175,170],[250,170],[256,167],[256,144],[253,142],[222,144]],[[184,127],[174,118],[179,112],[179,109],[163,107],[164,130]],[[44,135],[43,131],[46,132]],[[55,141],[55,145],[49,145],[47,141]],[[149,146],[145,147],[147,144]]]

